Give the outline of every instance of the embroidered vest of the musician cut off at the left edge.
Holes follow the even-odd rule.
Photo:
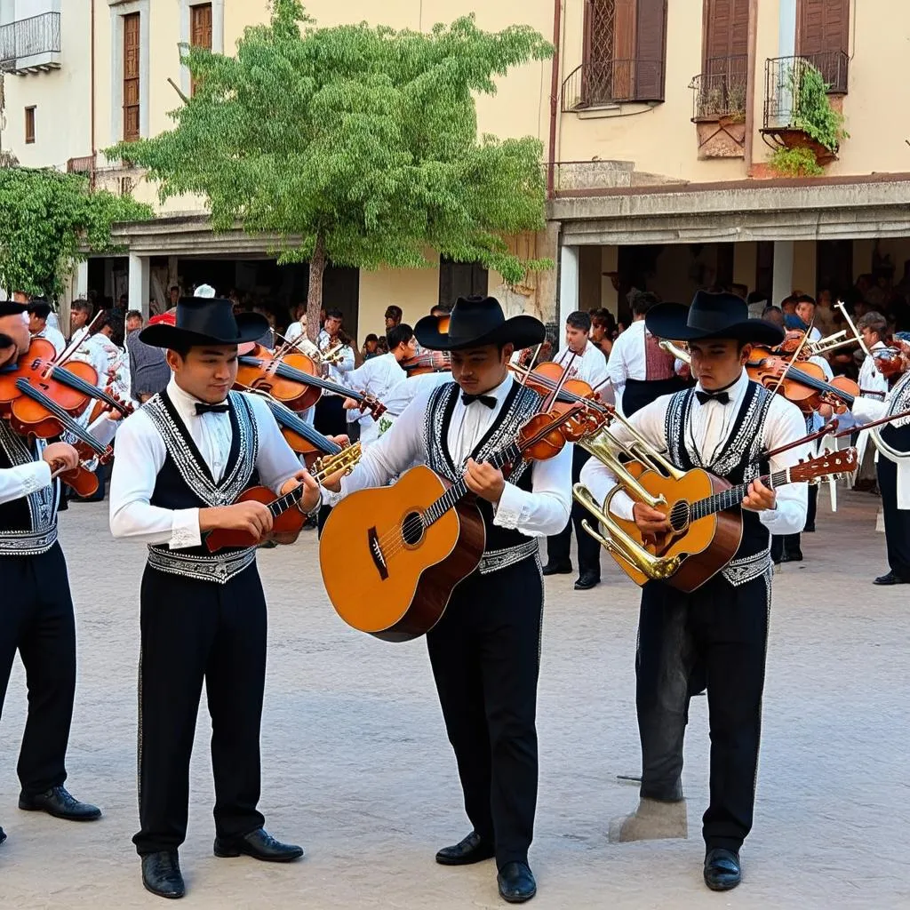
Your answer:
[[[41,458],[45,440],[33,445],[0,420],[0,469],[31,464]],[[36,556],[54,546],[60,483],[34,490],[17,500],[0,503],[0,556]]]

